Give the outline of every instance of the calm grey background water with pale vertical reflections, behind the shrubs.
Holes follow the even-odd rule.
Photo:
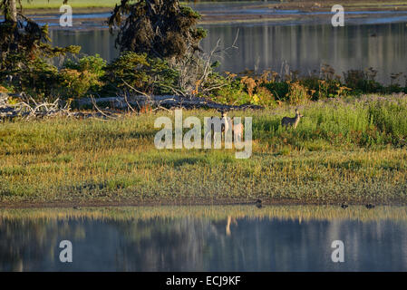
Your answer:
[[[208,38],[202,47],[206,52],[219,38],[222,47],[230,46],[239,31],[238,49],[219,55],[220,71],[280,72],[286,61],[293,70],[302,73],[318,70],[323,63],[332,65],[339,74],[373,67],[378,70],[377,80],[386,83],[390,82],[391,73],[407,73],[406,22],[349,24],[341,28],[327,24],[213,24],[205,28]],[[100,53],[108,61],[118,55],[114,37],[107,30],[54,30],[51,36],[57,45],[81,45],[82,53]]]

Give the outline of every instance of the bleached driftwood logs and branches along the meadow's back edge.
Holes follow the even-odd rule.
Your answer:
[[[97,99],[91,96],[90,98],[75,101],[74,106],[79,109],[84,107],[92,108],[91,112],[83,112],[71,111],[71,104],[60,102],[60,100],[56,100],[55,102],[36,102],[33,98],[26,96],[24,93],[16,97],[16,100],[19,100],[18,102],[10,102],[9,95],[0,93],[0,121],[12,120],[17,117],[28,120],[56,116],[109,120],[117,118],[119,111],[126,110],[136,112],[142,111],[142,108],[146,107],[151,111],[199,108],[218,111],[263,109],[261,106],[251,104],[241,106],[225,105],[195,96],[149,96],[146,94],[128,96],[127,93],[123,93],[123,96]]]

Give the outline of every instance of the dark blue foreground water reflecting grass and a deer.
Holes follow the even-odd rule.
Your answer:
[[[0,271],[407,271],[407,208],[2,209]]]

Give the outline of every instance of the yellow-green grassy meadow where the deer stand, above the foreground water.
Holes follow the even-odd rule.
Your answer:
[[[0,207],[119,202],[202,204],[407,204],[407,96],[309,102],[235,111],[253,117],[253,154],[157,150],[169,111],[117,120],[56,118],[0,125]],[[184,111],[187,116],[218,115]],[[186,130],[187,131],[187,130]]]

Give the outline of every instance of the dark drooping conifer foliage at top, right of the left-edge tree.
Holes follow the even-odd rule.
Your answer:
[[[200,15],[179,0],[121,0],[109,19],[121,52],[147,53],[149,57],[182,59],[199,51],[206,32],[196,28]]]

